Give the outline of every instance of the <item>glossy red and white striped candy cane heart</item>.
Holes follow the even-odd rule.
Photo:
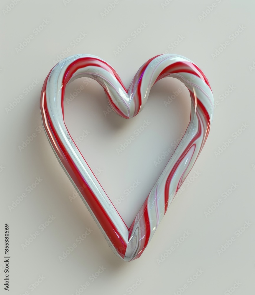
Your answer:
[[[64,122],[65,87],[80,77],[98,81],[113,111],[126,119],[141,112],[150,89],[161,78],[177,78],[190,92],[191,114],[187,130],[130,228],[104,192]],[[52,149],[109,246],[125,261],[139,258],[193,167],[210,131],[213,94],[207,78],[191,60],[163,54],[144,63],[126,89],[106,61],[94,55],[72,55],[57,63],[48,74],[42,88],[40,108]]]

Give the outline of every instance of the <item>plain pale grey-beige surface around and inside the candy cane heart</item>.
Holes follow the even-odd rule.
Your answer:
[[[116,1],[105,15],[113,1],[13,3],[1,1],[1,10],[9,5],[9,12],[1,11],[0,20],[1,294],[5,223],[10,226],[11,244],[8,294],[71,295],[87,281],[89,286],[81,294],[228,295],[233,290],[236,295],[251,294],[255,274],[254,3]],[[134,38],[141,23],[146,26]],[[237,36],[231,37],[238,28]],[[80,35],[82,39],[77,39]],[[129,45],[114,54],[128,38]],[[25,39],[30,42],[18,50]],[[213,56],[222,45],[226,48]],[[208,140],[187,177],[190,182],[171,204],[141,258],[124,263],[108,247],[81,199],[70,197],[75,190],[57,163],[45,132],[40,131],[40,91],[62,52],[100,56],[128,86],[143,63],[167,50],[186,56],[204,71],[218,103]],[[108,103],[101,86],[83,81],[74,81],[66,90],[66,124],[74,138],[80,137],[78,147],[93,171],[98,171],[98,180],[110,199],[116,202],[124,196],[117,208],[130,225],[171,152],[158,165],[154,161],[169,148],[173,152],[175,141],[185,132],[190,99],[183,89],[176,99],[164,103],[180,87],[178,81],[166,78],[152,88],[144,110],[126,120],[104,112]],[[70,99],[81,85],[84,89]],[[148,127],[118,154],[116,149],[144,120],[149,120]],[[239,130],[242,126],[247,127]],[[26,140],[27,146],[19,148]],[[228,140],[228,147],[215,155]],[[193,178],[194,173],[199,176]],[[27,189],[36,178],[42,181],[33,190]],[[134,181],[139,185],[127,194],[125,190]],[[228,190],[227,196],[224,191]],[[10,208],[23,193],[26,197]],[[205,214],[208,207],[212,207],[211,213]],[[55,219],[48,224],[49,216]],[[245,222],[250,225],[244,230]],[[87,228],[92,231],[85,237]],[[244,232],[238,234],[240,229]],[[36,231],[36,239],[24,246]],[[185,231],[190,234],[182,238]],[[85,239],[80,240],[82,235]],[[218,253],[231,237],[232,244]],[[60,262],[59,256],[74,243],[77,247]],[[169,249],[169,253],[174,249],[171,254],[167,254]],[[100,266],[105,270],[96,279],[90,277]],[[200,275],[196,277],[196,273]],[[35,283],[38,279],[40,283]]]

